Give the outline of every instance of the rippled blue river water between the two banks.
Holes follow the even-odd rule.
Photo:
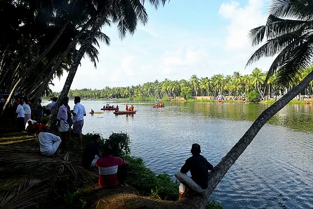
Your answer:
[[[82,101],[86,111],[104,104],[125,108],[126,102]],[[113,111],[88,114],[84,133],[126,132],[132,154],[155,171],[174,174],[191,156],[191,144],[213,165],[243,136],[268,105],[210,102],[134,104],[134,116]],[[73,101],[69,102],[71,108]],[[261,129],[210,196],[232,208],[313,208],[313,109],[287,105]]]

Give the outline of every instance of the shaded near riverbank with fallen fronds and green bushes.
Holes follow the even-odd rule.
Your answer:
[[[127,151],[128,145],[121,149],[121,154],[130,163],[131,175],[127,180],[130,187],[103,189],[97,184],[97,173],[81,167],[82,151],[76,149],[76,140],[69,140],[68,152],[61,150],[59,157],[48,158],[40,155],[35,136],[15,133],[13,126],[8,124],[12,124],[12,121],[1,120],[0,175],[3,181],[0,192],[8,194],[2,195],[6,201],[0,201],[4,204],[0,205],[1,208],[12,204],[20,208],[32,205],[61,209],[189,207],[184,202],[176,201],[178,184],[171,180],[171,176],[155,174],[142,159],[131,157]],[[91,137],[90,134],[84,135],[84,142],[88,143]],[[110,139],[128,141],[129,138],[127,134],[119,133],[102,141],[108,142]],[[209,203],[208,207],[221,208],[215,202]]]

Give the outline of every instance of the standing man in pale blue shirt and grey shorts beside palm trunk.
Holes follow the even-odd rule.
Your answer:
[[[80,148],[83,148],[83,137],[82,129],[84,126],[84,116],[86,116],[85,107],[80,103],[80,97],[75,96],[74,98],[74,110],[72,110],[73,115],[73,132],[78,135],[78,143]]]

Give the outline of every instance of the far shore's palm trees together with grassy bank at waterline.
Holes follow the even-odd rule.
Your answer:
[[[251,74],[242,75],[234,72],[232,75],[218,74],[212,77],[198,78],[192,75],[189,80],[179,81],[147,82],[142,85],[128,87],[106,87],[97,89],[70,90],[68,96],[74,98],[81,96],[86,100],[105,100],[114,99],[117,101],[201,101],[201,102],[262,102],[267,104],[274,103],[282,95],[288,92],[292,86],[303,79],[313,67],[302,71],[301,77],[294,84],[285,87],[276,82],[275,75],[271,76],[265,83],[268,72],[256,68]],[[51,93],[45,98],[59,96],[60,93]],[[313,84],[300,93],[290,104],[306,104],[313,95]],[[297,101],[296,101],[297,100]]]

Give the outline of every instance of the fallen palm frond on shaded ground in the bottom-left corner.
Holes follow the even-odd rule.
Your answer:
[[[35,205],[48,188],[38,179],[25,180],[13,191],[0,194],[0,209],[20,209]]]

